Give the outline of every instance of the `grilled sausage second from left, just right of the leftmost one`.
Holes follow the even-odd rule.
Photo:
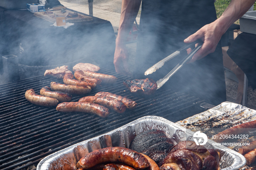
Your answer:
[[[40,94],[42,96],[56,98],[60,103],[65,101],[70,101],[72,96],[68,93],[60,92],[60,91],[51,91],[49,87],[45,86],[40,90]]]

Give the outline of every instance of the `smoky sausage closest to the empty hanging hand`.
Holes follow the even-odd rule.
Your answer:
[[[95,73],[89,70],[86,70],[83,73],[85,76],[100,79],[102,83],[114,83],[117,81],[117,78],[115,76],[108,75],[108,74]]]

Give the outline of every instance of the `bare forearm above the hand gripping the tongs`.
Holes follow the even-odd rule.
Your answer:
[[[253,5],[255,0],[231,0],[227,9],[222,13],[221,17],[216,20],[221,27],[223,34],[236,20],[241,18],[245,12]]]

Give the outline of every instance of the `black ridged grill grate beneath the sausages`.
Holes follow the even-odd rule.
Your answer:
[[[29,103],[26,90],[33,88],[37,94],[50,82],[63,83],[54,77],[37,76],[0,85],[0,169],[34,169],[42,158],[72,144],[114,130],[143,116],[161,116],[176,122],[205,111],[199,98],[158,89],[153,96],[135,96],[123,85],[130,77],[113,70],[101,69],[99,73],[118,78],[114,85],[100,85],[88,95],[104,91],[119,94],[138,103],[133,110],[123,114],[110,113],[106,118],[84,113],[61,113],[56,107],[40,107]],[[78,101],[83,96],[73,96]]]

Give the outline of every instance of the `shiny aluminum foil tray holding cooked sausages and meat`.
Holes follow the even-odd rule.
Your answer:
[[[88,153],[104,147],[129,147],[131,140],[136,135],[152,129],[165,131],[172,136],[176,142],[180,142],[181,140],[193,140],[192,131],[163,119],[162,117],[145,116],[109,133],[85,140],[84,142],[80,142],[49,155],[38,163],[37,170],[64,169],[64,166],[67,165],[65,163],[67,162],[68,164],[73,163],[74,165],[74,157],[78,157],[78,155],[76,155],[77,148],[83,148],[84,154],[86,154],[86,152]],[[213,146],[212,143],[211,140],[208,140],[204,146],[206,148],[214,148],[221,153],[220,167],[222,170],[236,170],[245,165],[245,158],[241,154],[223,146]]]

